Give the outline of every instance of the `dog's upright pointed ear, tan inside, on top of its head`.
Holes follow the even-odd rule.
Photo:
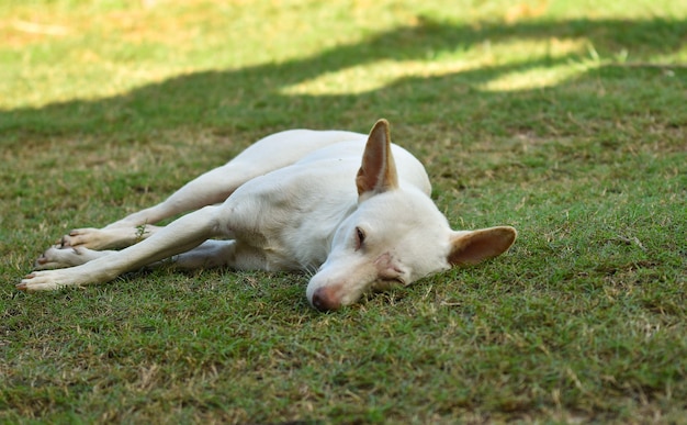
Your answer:
[[[358,195],[382,193],[398,187],[396,164],[391,153],[391,132],[388,121],[380,120],[374,124],[362,154],[362,165],[356,177]]]

